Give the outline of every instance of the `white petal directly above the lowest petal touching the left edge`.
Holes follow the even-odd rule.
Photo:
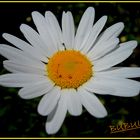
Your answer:
[[[13,73],[32,73],[32,74],[40,74],[46,75],[46,66],[44,67],[37,67],[37,66],[30,66],[26,64],[18,64],[11,60],[6,60],[3,62],[4,68]]]

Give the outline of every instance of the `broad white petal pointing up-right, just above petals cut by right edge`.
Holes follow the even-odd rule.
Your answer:
[[[118,49],[114,50],[110,54],[107,54],[101,59],[94,61],[94,70],[102,71],[119,64],[133,53],[133,50],[136,48],[136,46],[137,41],[121,43]]]

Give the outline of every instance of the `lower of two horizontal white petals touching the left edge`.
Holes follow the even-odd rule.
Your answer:
[[[46,79],[46,76],[34,74],[5,74],[0,76],[0,85],[8,87],[24,87],[44,79]]]

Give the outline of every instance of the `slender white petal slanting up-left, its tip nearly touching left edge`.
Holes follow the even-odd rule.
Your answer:
[[[37,51],[25,41],[7,33],[3,34],[3,38],[15,45],[17,48],[23,50],[29,57],[48,62],[48,59],[46,57],[44,58],[43,54],[40,54],[39,51]]]

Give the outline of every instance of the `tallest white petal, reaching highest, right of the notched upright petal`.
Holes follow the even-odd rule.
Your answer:
[[[87,8],[87,10],[85,11],[85,13],[81,18],[81,21],[77,29],[74,49],[80,50],[81,44],[88,39],[90,32],[92,30],[94,16],[95,16],[94,8],[92,7]]]

